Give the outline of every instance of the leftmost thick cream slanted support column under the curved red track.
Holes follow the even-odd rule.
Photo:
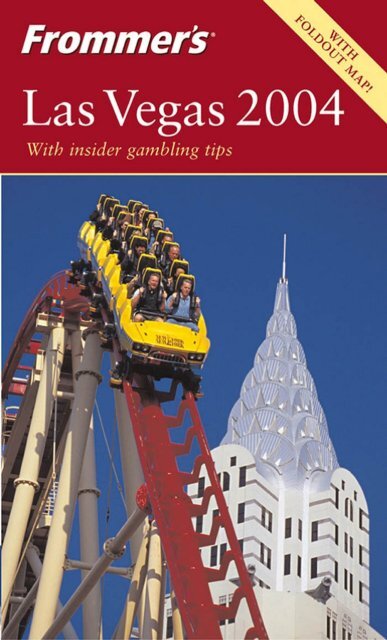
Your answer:
[[[50,426],[54,398],[58,388],[63,364],[65,330],[63,327],[51,331],[46,349],[35,408],[31,419],[20,476],[16,487],[7,532],[3,544],[3,619],[5,619],[9,597],[16,578],[17,567],[35,491],[39,488],[40,465]]]

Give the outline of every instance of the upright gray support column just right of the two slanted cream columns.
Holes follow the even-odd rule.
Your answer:
[[[82,367],[82,341],[80,331],[74,331],[71,334],[71,355],[73,372],[75,373]],[[93,418],[91,417],[78,490],[81,561],[90,565],[93,565],[99,557],[97,506],[99,495],[100,492],[97,489],[95,468]],[[86,575],[87,572],[83,571],[82,577],[85,578]],[[82,618],[82,637],[84,640],[97,640],[97,638],[101,638],[101,588],[99,583],[96,584],[83,603]]]

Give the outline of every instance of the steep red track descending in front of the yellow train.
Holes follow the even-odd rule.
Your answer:
[[[208,447],[195,399],[187,393],[177,416],[163,413],[155,397],[144,395],[124,383],[124,393],[131,414],[137,448],[145,482],[157,521],[173,588],[179,604],[187,637],[190,640],[216,640],[222,638],[220,620],[235,618],[240,601],[245,598],[252,626],[245,638],[267,639],[266,629],[243,560],[226,501],[219,485],[214,463]],[[175,444],[169,437],[170,428],[183,427],[186,414],[191,426],[185,433],[183,444]],[[186,428],[186,427],[184,427]],[[177,459],[187,455],[194,442],[200,448],[192,473],[179,470]],[[196,483],[204,465],[209,486],[201,504],[192,502],[185,486]],[[214,496],[219,515],[213,520],[208,535],[197,533],[192,518],[207,513],[210,498]],[[200,547],[215,544],[219,529],[223,527],[229,550],[222,558],[219,569],[205,567]],[[226,577],[228,566],[234,562],[239,575],[239,586],[229,606],[216,605],[212,601],[209,583]]]

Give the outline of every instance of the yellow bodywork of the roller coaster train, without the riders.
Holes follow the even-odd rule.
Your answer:
[[[184,326],[184,323],[133,322],[128,286],[121,283],[121,267],[117,255],[110,253],[110,242],[103,240],[101,232],[96,233],[93,224],[85,222],[79,231],[78,246],[82,258],[91,261],[93,270],[99,274],[98,280],[114,314],[120,345],[131,354],[134,362],[168,365],[182,370],[202,368],[210,348],[203,315],[197,323],[198,331]],[[141,269],[152,270],[157,266],[155,257],[149,254],[143,254],[141,262]]]

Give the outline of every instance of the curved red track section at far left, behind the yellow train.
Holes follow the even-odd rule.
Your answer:
[[[23,393],[23,385],[19,385],[20,389],[12,386],[13,377],[20,369],[19,364],[23,354],[36,354],[39,349],[39,341],[32,339],[38,313],[49,311],[54,306],[58,307],[60,315],[77,313],[88,308],[88,301],[79,295],[78,287],[67,282],[65,271],[59,271],[50,278],[39,291],[24,317],[3,369],[2,398],[6,398],[10,392]]]

